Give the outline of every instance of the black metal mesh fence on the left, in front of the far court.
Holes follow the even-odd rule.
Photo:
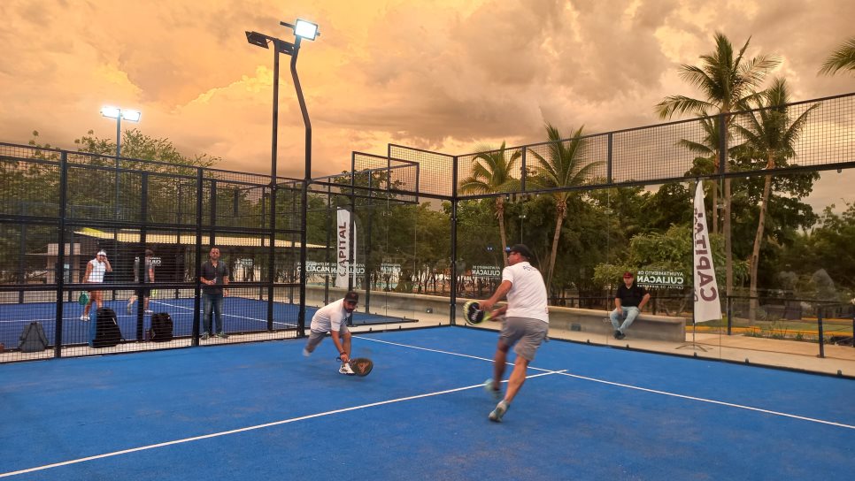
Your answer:
[[[297,335],[302,181],[274,195],[256,174],[6,144],[0,178],[5,361]],[[212,247],[230,280],[219,325],[199,289]],[[164,313],[171,333],[152,340]],[[95,342],[109,317],[118,342]]]

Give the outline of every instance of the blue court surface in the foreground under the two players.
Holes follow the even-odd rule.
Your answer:
[[[552,340],[501,424],[497,332],[0,365],[14,479],[851,479],[855,382]],[[513,359],[513,355],[510,356]],[[505,376],[510,374],[509,370]],[[130,380],[128,380],[130,379]]]

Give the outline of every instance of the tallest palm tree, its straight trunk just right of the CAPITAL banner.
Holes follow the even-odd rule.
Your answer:
[[[726,132],[728,134],[732,118],[730,112],[746,108],[749,101],[759,98],[759,86],[775,66],[781,63],[776,56],[761,55],[744,59],[745,50],[751,37],[743,48],[734,55],[733,45],[728,37],[720,32],[715,34],[715,51],[701,56],[701,66],[682,65],[680,76],[690,85],[698,88],[705,100],[693,99],[683,95],[672,95],[656,105],[656,112],[661,118],[671,118],[675,113],[703,113],[718,111],[726,116]],[[719,152],[719,162],[728,172],[725,152]],[[730,179],[724,179],[724,234],[727,294],[733,290],[733,246],[730,235]]]

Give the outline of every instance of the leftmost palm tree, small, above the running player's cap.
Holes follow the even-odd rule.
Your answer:
[[[512,177],[513,164],[522,156],[520,150],[514,150],[509,158],[505,152],[505,142],[502,147],[492,149],[488,146],[478,148],[481,153],[473,158],[472,175],[460,181],[460,192],[463,194],[496,194],[512,192],[519,189],[520,179]],[[505,196],[496,197],[496,217],[499,222],[499,237],[502,240],[502,252],[507,248],[505,235]],[[508,258],[502,256],[505,266]]]

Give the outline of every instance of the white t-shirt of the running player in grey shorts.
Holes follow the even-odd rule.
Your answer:
[[[505,267],[502,280],[510,281],[507,317],[531,317],[549,324],[549,308],[543,275],[527,261]]]

